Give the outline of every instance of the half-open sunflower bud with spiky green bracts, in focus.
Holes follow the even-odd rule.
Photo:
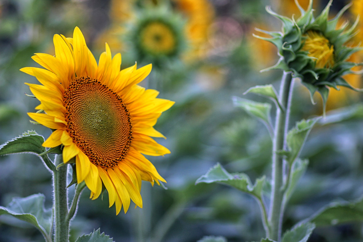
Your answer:
[[[358,19],[349,28],[348,22],[337,28],[340,17],[350,7],[350,4],[340,10],[333,19],[328,20],[332,0],[316,18],[313,16],[312,0],[306,11],[297,0],[295,3],[301,12],[301,16],[297,20],[294,17],[289,19],[278,15],[266,7],[268,13],[282,21],[282,32],[259,30],[269,34],[272,38],[255,37],[269,41],[278,48],[280,59],[276,65],[265,70],[291,71],[293,77],[301,78],[302,84],[310,91],[311,101],[314,103],[313,94],[318,91],[325,107],[329,87],[339,90],[338,86],[344,86],[357,90],[342,76],[354,73],[351,68],[360,65],[347,61],[352,53],[361,50],[357,46],[352,47],[347,44],[356,34],[355,27]]]

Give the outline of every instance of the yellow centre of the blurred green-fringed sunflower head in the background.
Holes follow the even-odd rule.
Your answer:
[[[140,31],[140,44],[150,54],[171,54],[176,48],[176,37],[169,25],[150,22]]]

